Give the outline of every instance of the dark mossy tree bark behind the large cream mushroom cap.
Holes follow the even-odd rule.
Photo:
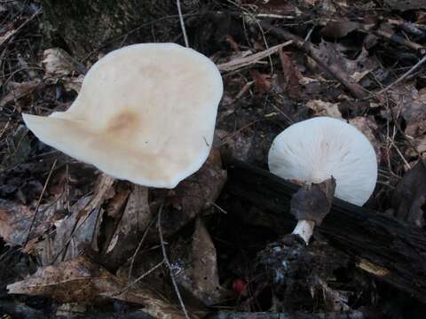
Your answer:
[[[41,0],[44,33],[50,45],[76,58],[97,54],[108,44],[178,42],[181,27],[175,0]],[[193,12],[200,0],[181,0]],[[48,40],[48,41],[49,41]],[[95,55],[96,57],[96,55]]]

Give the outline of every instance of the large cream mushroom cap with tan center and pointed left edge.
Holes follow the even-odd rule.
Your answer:
[[[91,67],[67,112],[23,119],[43,143],[106,174],[173,188],[209,156],[222,93],[217,67],[201,53],[134,44]]]

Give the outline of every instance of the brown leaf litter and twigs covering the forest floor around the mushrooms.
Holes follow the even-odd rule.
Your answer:
[[[277,240],[272,223],[282,221],[227,192],[224,162],[241,159],[266,168],[273,137],[289,124],[312,116],[348,121],[377,154],[379,184],[368,208],[423,228],[424,66],[394,83],[424,55],[424,6],[416,1],[385,1],[386,7],[329,0],[225,3],[212,5],[233,21],[221,28],[227,40],[215,40],[209,48],[225,82],[217,149],[199,172],[171,191],[114,181],[37,142],[22,125],[20,112],[67,109],[90,63],[77,61],[67,48],[41,51],[38,44],[17,42],[29,27],[39,28],[40,13],[23,10],[28,22],[17,19],[3,29],[0,262],[2,268],[7,262],[22,265],[20,273],[4,280],[9,293],[43,296],[58,305],[122,300],[154,317],[183,318],[170,284],[172,272],[192,317],[217,307],[228,308],[236,318],[244,317],[240,310],[388,311],[373,301],[377,294],[386,296],[380,283],[378,288],[369,276],[354,271],[351,254],[335,250],[318,234],[312,247],[301,250],[304,262],[318,264],[299,265],[303,271],[313,269],[315,276],[307,276],[310,288],[303,290],[305,282],[286,288],[301,293],[298,298],[289,302],[280,287],[256,277],[256,255]],[[13,5],[4,4],[0,14],[16,13]],[[201,29],[192,30],[193,35]],[[16,52],[20,58],[12,58]],[[45,185],[53,160],[58,164]],[[165,267],[154,226],[161,207],[162,245],[171,269]],[[286,232],[285,223],[281,231]],[[236,291],[235,283],[243,288]]]

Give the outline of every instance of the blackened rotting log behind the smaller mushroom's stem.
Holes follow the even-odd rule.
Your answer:
[[[291,196],[299,186],[268,171],[233,161],[227,189],[288,222]],[[422,229],[338,198],[318,228],[331,245],[350,253],[357,266],[426,303],[426,234]]]

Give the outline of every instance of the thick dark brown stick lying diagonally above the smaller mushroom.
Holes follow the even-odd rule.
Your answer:
[[[355,82],[349,74],[346,74],[339,64],[334,63],[334,61],[330,61],[328,57],[322,56],[319,49],[315,48],[312,43],[304,41],[304,39],[297,35],[293,35],[280,27],[273,27],[269,22],[260,21],[259,23],[262,27],[264,27],[265,31],[267,30],[271,32],[272,35],[275,35],[282,40],[292,40],[299,50],[304,51],[304,53],[315,60],[319,66],[324,67],[327,72],[333,75],[337,81],[341,82],[354,97],[367,97],[367,91],[365,89]]]

